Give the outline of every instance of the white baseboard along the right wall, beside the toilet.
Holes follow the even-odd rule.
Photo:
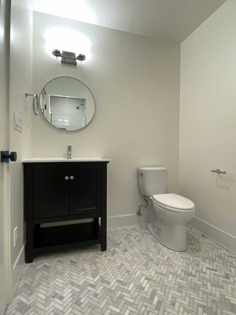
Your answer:
[[[225,249],[228,249],[233,254],[236,254],[236,237],[233,235],[230,235],[196,217],[189,221],[187,225],[223,246]]]

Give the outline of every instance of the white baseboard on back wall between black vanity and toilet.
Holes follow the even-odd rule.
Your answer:
[[[117,215],[107,217],[107,228],[116,229],[118,227],[142,225],[149,223],[149,212],[143,212],[142,217],[133,215]]]

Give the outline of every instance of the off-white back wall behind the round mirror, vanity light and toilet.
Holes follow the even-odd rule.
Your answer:
[[[52,28],[58,34],[50,41]],[[76,54],[86,55],[77,66],[61,64],[51,54],[66,50],[68,38],[81,44]],[[96,104],[93,120],[80,131],[55,129],[42,113],[33,117],[34,157],[66,157],[72,145],[72,157],[111,158],[108,216],[135,214],[143,198],[139,166],[166,166],[169,191],[178,192],[179,45],[34,12],[33,56],[34,93],[54,77],[70,76],[89,87]]]

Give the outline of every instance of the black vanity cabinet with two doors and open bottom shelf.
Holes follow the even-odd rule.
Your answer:
[[[98,243],[106,250],[107,163],[23,161],[26,263],[47,251]],[[64,223],[79,219],[93,222]],[[53,222],[62,223],[41,226]]]

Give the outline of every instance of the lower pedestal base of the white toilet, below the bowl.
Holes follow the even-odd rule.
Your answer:
[[[162,223],[159,231],[152,224],[148,223],[147,228],[161,245],[177,252],[184,252],[187,249],[185,224],[165,226]]]

